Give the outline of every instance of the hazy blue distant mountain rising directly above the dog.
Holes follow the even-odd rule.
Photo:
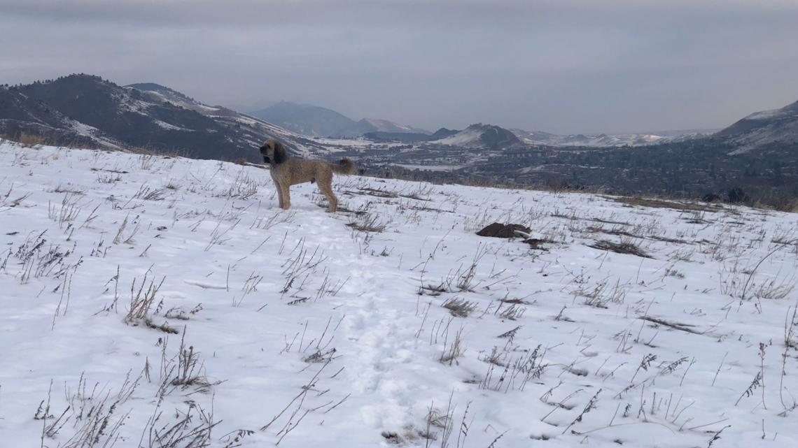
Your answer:
[[[358,122],[334,110],[290,101],[280,101],[250,115],[303,136],[347,136],[358,128]]]

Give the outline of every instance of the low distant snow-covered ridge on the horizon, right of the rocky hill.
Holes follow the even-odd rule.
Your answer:
[[[670,135],[660,134],[598,134],[584,135],[571,134],[559,136],[550,132],[525,131],[523,129],[512,129],[523,141],[531,145],[555,146],[555,147],[617,147],[617,146],[647,146],[656,143],[670,143],[689,140],[705,136],[701,132],[669,132]]]

